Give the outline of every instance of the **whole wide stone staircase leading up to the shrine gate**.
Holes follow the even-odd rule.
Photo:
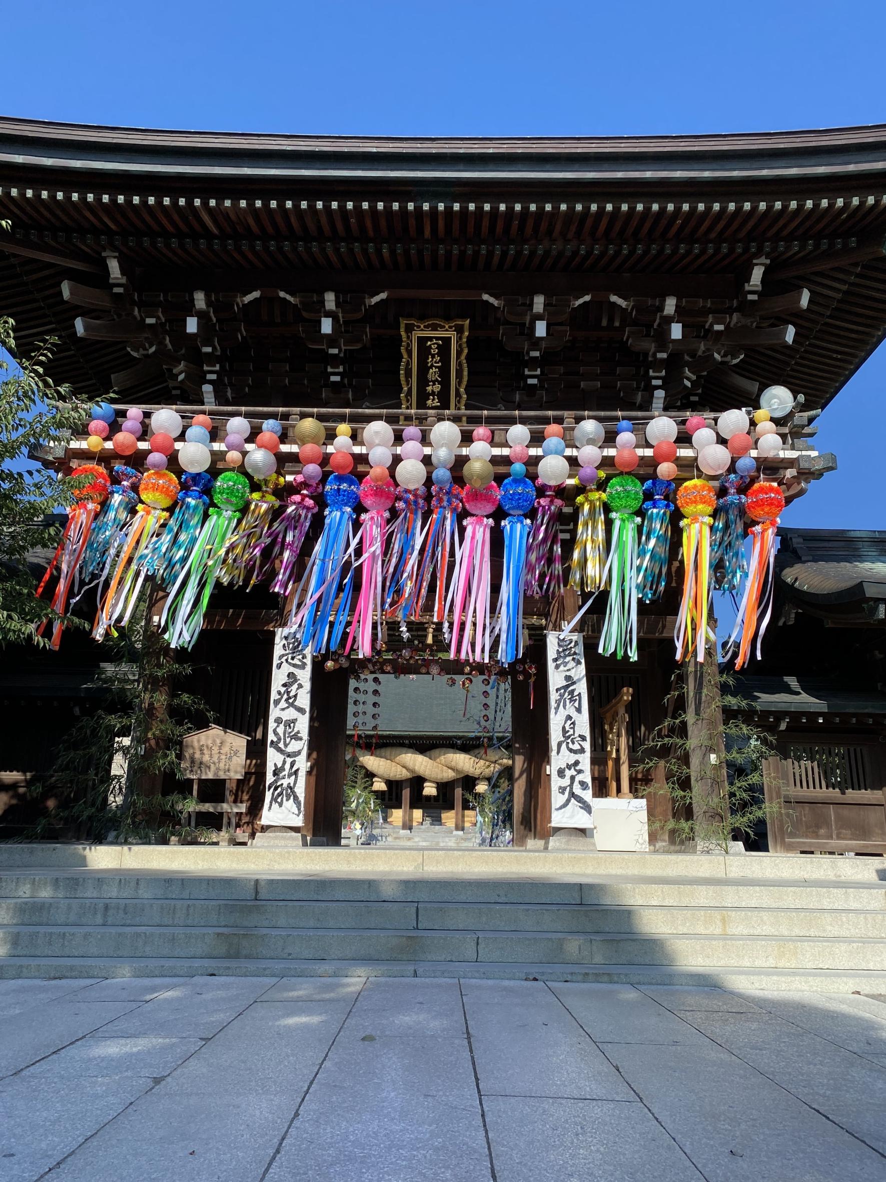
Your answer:
[[[634,863],[644,868],[636,875],[594,875],[593,860],[586,873],[545,875],[536,859],[522,871],[520,856],[500,871],[477,862],[450,873],[8,869],[0,976],[370,974],[886,992],[882,863],[841,878],[835,859],[790,862],[795,878],[771,879],[653,875],[649,862]],[[815,863],[830,877],[800,877]]]

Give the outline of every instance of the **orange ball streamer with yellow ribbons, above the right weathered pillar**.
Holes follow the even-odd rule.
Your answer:
[[[673,638],[678,661],[688,660],[695,650],[702,663],[710,638],[710,541],[717,494],[706,480],[688,480],[677,492],[677,507],[683,514],[683,598]]]

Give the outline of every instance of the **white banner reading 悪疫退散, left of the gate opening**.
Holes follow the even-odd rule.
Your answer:
[[[274,632],[262,825],[298,826],[305,820],[312,660],[299,644],[297,632],[297,628]]]

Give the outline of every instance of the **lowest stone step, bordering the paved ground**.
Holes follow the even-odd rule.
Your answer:
[[[602,985],[682,985],[722,989],[807,993],[886,993],[886,972],[865,969],[735,968],[683,965],[543,965],[497,961],[223,960],[200,957],[7,956],[0,979],[162,976],[422,976],[510,981],[587,981]]]

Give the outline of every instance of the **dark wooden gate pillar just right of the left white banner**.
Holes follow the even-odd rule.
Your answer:
[[[341,806],[347,747],[347,669],[327,673],[319,662],[311,680],[310,768],[305,781],[302,833],[341,844]]]

